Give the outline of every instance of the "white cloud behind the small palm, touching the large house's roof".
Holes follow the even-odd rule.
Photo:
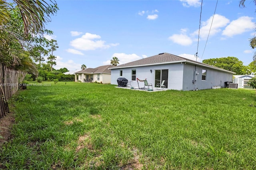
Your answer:
[[[144,57],[146,55],[142,55],[142,56]],[[129,63],[129,62],[132,62],[132,61],[136,61],[138,59],[142,59],[142,57],[140,57],[136,54],[125,54],[125,53],[114,53],[112,55],[112,57],[117,57],[119,59],[119,65]],[[111,59],[112,59],[112,57],[111,57]],[[110,64],[110,60],[104,61],[103,63],[106,64],[106,65]]]

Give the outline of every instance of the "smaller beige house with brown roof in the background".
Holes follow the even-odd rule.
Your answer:
[[[99,82],[108,84],[111,80],[111,71],[108,69],[112,65],[102,65],[96,68],[87,68],[75,72],[75,81]]]

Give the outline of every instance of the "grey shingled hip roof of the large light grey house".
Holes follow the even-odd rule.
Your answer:
[[[170,53],[160,53],[158,55],[154,55],[152,57],[147,57],[147,58],[143,58],[143,59],[139,59],[136,61],[132,61],[130,63],[125,63],[122,65],[117,65],[115,67],[111,67],[110,69],[119,69],[119,68],[126,68],[126,67],[140,67],[140,66],[146,66],[146,65],[160,65],[160,64],[170,64],[170,63],[179,63],[179,62],[188,62],[188,63],[192,63],[195,65],[201,65],[204,67],[209,67],[212,69],[217,69],[220,71],[225,71],[225,72],[229,72],[234,74],[235,72],[232,71],[228,71],[225,69],[221,69],[219,67],[214,67],[212,65],[208,65],[205,63],[200,63],[197,61],[193,61],[191,59],[187,59],[184,57],[180,57],[178,55],[173,55]]]

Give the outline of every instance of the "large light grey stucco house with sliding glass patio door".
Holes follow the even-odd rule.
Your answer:
[[[153,87],[165,80],[167,89],[184,91],[211,89],[214,86],[225,87],[224,82],[232,81],[234,74],[232,71],[169,53],[160,53],[110,69],[111,84],[118,85],[116,80],[119,77],[131,81],[133,87],[138,87],[136,78],[147,79]],[[143,87],[144,83],[139,82],[139,86]]]

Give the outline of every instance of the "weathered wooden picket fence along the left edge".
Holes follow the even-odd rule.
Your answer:
[[[7,101],[18,91],[25,75],[24,71],[10,69],[0,63],[0,119],[9,113]]]

